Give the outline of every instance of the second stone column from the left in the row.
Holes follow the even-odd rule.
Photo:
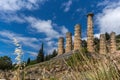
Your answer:
[[[66,33],[66,49],[65,52],[70,52],[72,50],[72,34],[70,32]]]

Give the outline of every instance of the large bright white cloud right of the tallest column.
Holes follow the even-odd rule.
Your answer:
[[[107,2],[102,13],[96,15],[96,22],[101,33],[120,33],[120,1]]]

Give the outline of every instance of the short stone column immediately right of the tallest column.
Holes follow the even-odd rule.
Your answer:
[[[106,54],[107,53],[107,46],[106,46],[106,37],[105,34],[100,35],[100,54]]]

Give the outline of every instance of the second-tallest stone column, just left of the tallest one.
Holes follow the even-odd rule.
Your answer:
[[[75,26],[75,33],[74,33],[74,50],[81,49],[81,27],[79,24]]]

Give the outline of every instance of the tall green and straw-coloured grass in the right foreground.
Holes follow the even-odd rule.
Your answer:
[[[99,54],[97,54],[99,56]],[[71,80],[120,80],[120,71],[117,65],[107,56],[104,59],[97,59],[86,54],[74,53],[66,64],[73,70]],[[75,74],[75,73],[76,74]],[[74,77],[74,79],[73,79]]]

